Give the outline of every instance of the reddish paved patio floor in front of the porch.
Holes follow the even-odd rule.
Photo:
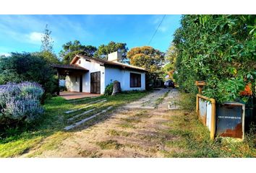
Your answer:
[[[59,96],[64,99],[82,99],[85,97],[98,97],[101,94],[91,94],[86,92],[59,92]]]

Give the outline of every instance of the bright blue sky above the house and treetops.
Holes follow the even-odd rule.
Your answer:
[[[54,38],[54,52],[68,41],[98,47],[110,41],[129,49],[148,45],[163,15],[0,15],[0,54],[40,50],[46,25]],[[179,27],[181,15],[166,15],[150,46],[163,52]]]

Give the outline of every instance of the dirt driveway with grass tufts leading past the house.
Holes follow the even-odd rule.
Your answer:
[[[168,102],[178,96],[176,89],[159,89],[115,110],[100,123],[76,131],[54,150],[39,157],[164,157],[169,117]]]

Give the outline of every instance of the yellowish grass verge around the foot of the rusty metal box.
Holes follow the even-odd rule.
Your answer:
[[[176,148],[166,152],[166,157],[256,157],[256,134],[247,133],[243,142],[232,138],[217,137],[210,141],[210,132],[197,119],[195,100],[189,94],[182,94],[182,110],[169,117],[168,133],[176,140],[166,141],[166,146]],[[190,105],[190,106],[189,106]]]

